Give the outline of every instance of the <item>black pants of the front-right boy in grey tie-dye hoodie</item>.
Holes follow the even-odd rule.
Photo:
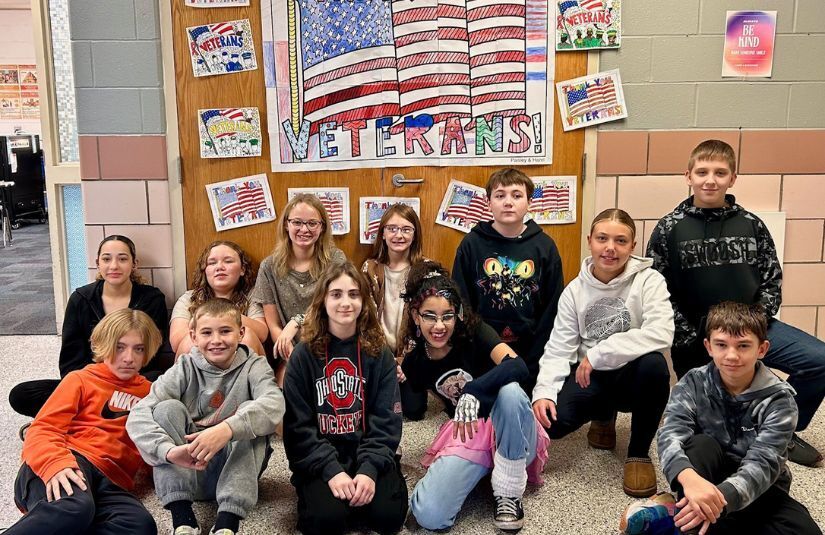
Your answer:
[[[715,485],[724,481],[738,468],[738,465],[725,455],[716,439],[709,435],[692,436],[685,443],[684,451],[693,469]],[[678,492],[679,499],[684,497],[681,485],[677,481],[674,480],[671,486]],[[708,530],[708,534],[713,535],[726,533],[821,535],[822,530],[804,505],[773,485],[744,509],[723,514]]]

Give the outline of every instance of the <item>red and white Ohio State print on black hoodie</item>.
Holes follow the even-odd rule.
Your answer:
[[[331,358],[315,380],[318,429],[322,435],[354,433],[363,427],[363,378],[347,357]]]

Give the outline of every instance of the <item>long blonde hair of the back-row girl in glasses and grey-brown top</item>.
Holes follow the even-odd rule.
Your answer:
[[[272,260],[275,264],[275,273],[279,277],[286,277],[289,273],[289,264],[295,258],[295,253],[292,250],[292,240],[289,238],[289,231],[287,230],[287,220],[292,209],[299,204],[306,204],[313,208],[321,218],[321,234],[315,242],[315,249],[313,252],[312,266],[309,268],[309,274],[313,279],[321,276],[321,273],[332,262],[332,250],[334,244],[332,243],[332,229],[329,224],[329,216],[318,200],[318,197],[311,193],[299,193],[284,206],[281,217],[278,219],[278,227],[276,230],[275,249],[272,251]]]

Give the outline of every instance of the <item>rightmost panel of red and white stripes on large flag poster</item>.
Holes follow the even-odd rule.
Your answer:
[[[524,0],[467,0],[473,116],[526,109]]]

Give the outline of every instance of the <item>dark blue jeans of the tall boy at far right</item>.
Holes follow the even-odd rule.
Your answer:
[[[796,390],[796,428],[801,431],[825,397],[825,342],[778,320],[768,324],[768,340],[771,347],[762,360],[788,374],[788,384]]]

